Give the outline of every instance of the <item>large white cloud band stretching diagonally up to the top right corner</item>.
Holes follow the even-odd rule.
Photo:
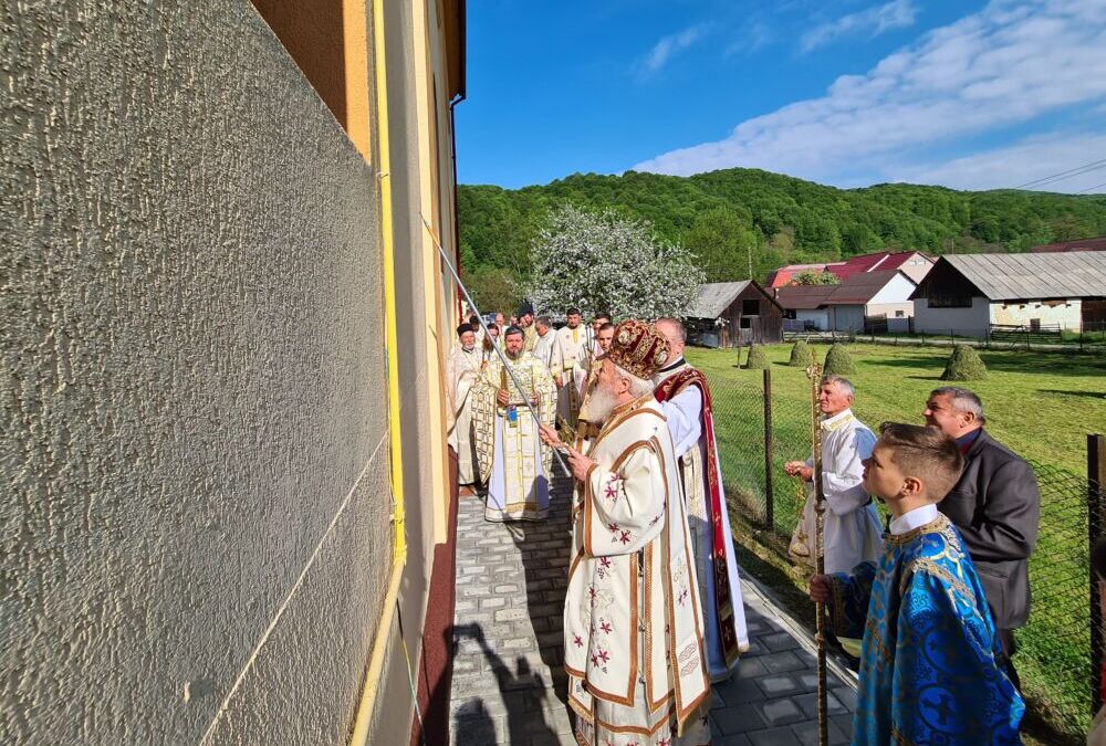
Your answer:
[[[745,166],[831,183],[857,172],[887,178],[888,166],[931,162],[935,145],[1098,106],[1106,99],[1103,49],[1102,0],[993,0],[867,74],[838,77],[820,98],[634,168],[688,175]]]

